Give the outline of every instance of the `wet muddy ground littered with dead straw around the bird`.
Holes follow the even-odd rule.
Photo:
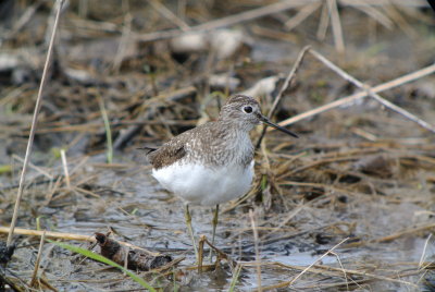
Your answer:
[[[363,92],[315,58],[319,52],[374,88],[418,72],[378,94],[435,125],[435,13],[425,1],[298,3],[69,1],[17,219],[34,233],[15,234],[15,253],[0,270],[4,289],[144,289],[52,242],[42,246],[30,288],[36,233],[47,230],[60,232],[47,239],[96,253],[100,247],[86,239],[110,232],[179,259],[163,269],[133,269],[160,291],[435,291],[434,132],[373,97],[288,122]],[[0,3],[4,242],[54,14],[51,1]],[[306,46],[311,50],[272,118],[287,121],[300,138],[266,133],[251,192],[221,206],[215,246],[227,256],[214,256],[215,265],[206,258],[199,272],[183,203],[152,179],[138,148],[215,119],[234,93],[253,95],[268,113]],[[252,141],[260,135],[261,127]],[[191,211],[198,238],[210,239],[211,210]]]

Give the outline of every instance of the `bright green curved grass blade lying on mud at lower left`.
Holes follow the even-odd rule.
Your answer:
[[[125,272],[126,275],[128,275],[133,280],[135,280],[137,283],[139,283],[141,287],[148,289],[150,292],[157,292],[156,289],[153,289],[149,283],[147,283],[142,278],[140,278],[139,276],[137,276],[136,273],[132,272],[130,270],[125,269],[123,266],[117,265],[116,263],[114,263],[113,260],[110,260],[107,257],[103,257],[102,255],[99,254],[95,254],[86,248],[82,248],[78,246],[74,246],[71,244],[66,244],[66,243],[62,243],[62,242],[55,242],[55,241],[50,241],[47,240],[48,242],[55,244],[62,248],[69,250],[71,252],[84,255],[86,257],[92,258],[95,260],[98,260],[100,263],[104,263],[107,265],[110,265],[114,268],[119,268],[120,270],[122,270],[123,272]]]

